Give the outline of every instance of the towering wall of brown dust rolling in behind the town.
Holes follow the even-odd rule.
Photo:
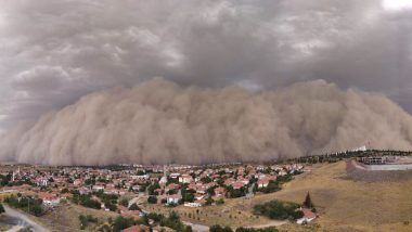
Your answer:
[[[412,118],[377,93],[314,80],[274,91],[154,78],[81,98],[0,139],[0,158],[48,165],[263,162],[356,149],[410,150]]]

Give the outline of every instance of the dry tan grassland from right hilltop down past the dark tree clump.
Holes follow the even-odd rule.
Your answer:
[[[183,220],[207,225],[270,224],[271,220],[253,215],[255,204],[274,198],[301,203],[308,191],[320,217],[307,227],[281,225],[282,231],[412,231],[412,180],[353,181],[347,177],[345,162],[318,165],[312,172],[297,176],[282,191],[258,195],[253,199],[227,199],[222,206],[197,208],[198,212],[196,208],[183,206],[172,209],[147,206],[146,209],[162,212],[176,210]]]

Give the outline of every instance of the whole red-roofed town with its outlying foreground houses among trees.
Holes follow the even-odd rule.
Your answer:
[[[3,165],[1,170],[3,201],[30,215],[52,214],[61,205],[74,204],[117,212],[123,218],[133,221],[157,212],[150,211],[147,205],[165,208],[224,205],[229,198],[247,199],[255,195],[280,191],[282,184],[292,181],[294,176],[310,171],[308,167],[298,163],[119,165],[104,168]],[[24,201],[27,204],[22,204]],[[296,207],[296,210],[301,212],[294,218],[297,223],[307,223],[316,218],[316,214],[307,208]],[[79,218],[80,221],[83,220],[82,229],[86,229],[88,223],[85,218],[87,216],[83,216],[83,219]],[[149,230],[150,224],[126,223],[120,225],[118,231],[128,231],[125,228],[127,225],[132,225],[129,231],[140,231],[142,228]],[[154,227],[152,230],[156,231]],[[179,231],[177,228],[168,230]]]

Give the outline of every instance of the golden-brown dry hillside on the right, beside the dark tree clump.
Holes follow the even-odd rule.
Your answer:
[[[365,183],[346,178],[346,164],[296,178],[275,197],[301,202],[310,191],[322,231],[412,231],[412,180]],[[403,222],[411,221],[411,225]],[[293,225],[284,227],[294,231]],[[319,230],[319,229],[318,229]]]

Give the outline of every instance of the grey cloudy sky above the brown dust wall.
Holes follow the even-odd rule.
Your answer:
[[[253,90],[325,79],[412,112],[412,10],[388,2],[0,0],[0,130],[155,76]]]

